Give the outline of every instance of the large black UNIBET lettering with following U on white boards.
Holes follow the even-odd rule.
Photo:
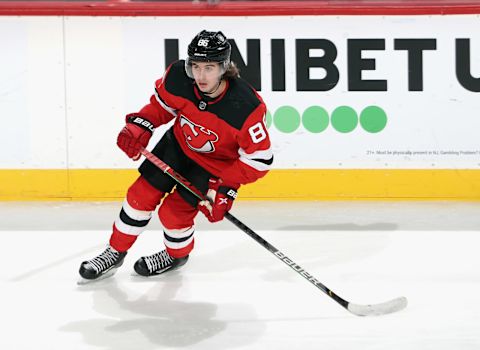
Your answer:
[[[471,41],[469,38],[455,40],[455,76],[465,90],[480,92],[480,77],[471,70]],[[260,39],[246,39],[247,54],[243,57],[235,40],[232,44],[232,60],[237,64],[246,79],[255,89],[262,90]],[[348,91],[388,91],[387,79],[363,79],[362,73],[374,71],[376,60],[364,58],[368,51],[384,51],[385,39],[347,39],[347,88]],[[479,43],[480,44],[480,43]],[[271,91],[286,91],[285,39],[271,39]],[[408,91],[423,91],[423,61],[426,51],[437,50],[437,39],[393,39],[396,51],[405,51]],[[323,56],[311,56],[311,50],[323,51]],[[337,47],[328,39],[295,39],[295,79],[296,91],[329,91],[340,81],[340,73],[335,63]],[[178,59],[178,39],[165,39],[166,65]],[[248,64],[246,63],[248,62]],[[310,76],[310,69],[321,68],[326,74],[321,79]]]

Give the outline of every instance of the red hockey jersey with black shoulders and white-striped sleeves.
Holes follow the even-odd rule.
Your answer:
[[[184,69],[171,64],[155,83],[150,104],[139,112],[154,126],[175,118],[173,132],[183,152],[232,186],[264,176],[273,162],[266,106],[243,79],[229,79],[215,99],[200,93]]]

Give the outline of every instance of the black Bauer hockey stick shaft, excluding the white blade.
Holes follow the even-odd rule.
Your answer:
[[[165,162],[163,162],[161,159],[159,159],[157,156],[152,154],[146,149],[143,149],[141,153],[153,164],[155,164],[160,170],[162,170],[165,174],[170,176],[173,180],[175,180],[179,185],[184,187],[186,190],[188,190],[190,193],[192,193],[194,196],[196,196],[200,200],[207,200],[205,196],[197,189],[195,188],[187,179],[185,179],[182,175],[177,173],[175,170],[170,168]],[[275,255],[279,260],[281,260],[283,263],[285,263],[287,266],[289,266],[293,271],[298,273],[300,276],[305,278],[307,281],[309,281],[311,284],[313,284],[315,287],[320,289],[322,292],[324,292],[326,295],[328,295],[330,298],[335,300],[337,303],[339,303],[341,306],[343,306],[345,309],[348,310],[348,304],[349,302],[346,301],[345,299],[339,297],[336,295],[334,292],[332,292],[329,288],[327,288],[324,284],[322,284],[319,280],[317,280],[315,277],[313,277],[311,274],[309,274],[305,269],[303,269],[300,265],[296,264],[292,259],[287,257],[285,254],[283,254],[280,250],[275,248],[272,244],[267,242],[264,238],[259,236],[255,231],[253,231],[251,228],[249,228],[247,225],[245,225],[243,222],[238,220],[235,216],[227,212],[225,214],[225,217],[230,221],[232,224],[237,226],[240,230],[245,232],[247,235],[252,237],[257,243],[262,245],[265,249],[267,249],[270,253]]]

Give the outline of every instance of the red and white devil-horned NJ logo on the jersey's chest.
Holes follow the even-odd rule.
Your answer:
[[[214,143],[218,141],[218,135],[212,130],[191,122],[184,115],[180,116],[180,127],[190,149],[204,153],[215,151]]]

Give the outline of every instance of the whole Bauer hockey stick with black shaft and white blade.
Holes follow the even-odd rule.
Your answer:
[[[186,190],[188,190],[190,193],[192,193],[198,199],[206,200],[205,196],[197,188],[195,188],[187,179],[185,179],[182,175],[178,174],[175,170],[170,168],[166,163],[164,163],[157,156],[155,156],[154,154],[152,154],[151,152],[149,152],[146,149],[142,149],[141,153],[150,162],[152,162],[154,165],[156,165],[160,170],[162,170],[165,174],[170,176],[179,185],[183,186]],[[311,274],[309,274],[307,271],[305,271],[305,269],[303,269],[300,265],[296,264],[292,259],[287,257],[280,250],[278,250],[273,245],[271,245],[269,242],[267,242],[265,239],[260,237],[257,233],[255,233],[252,229],[250,229],[247,225],[242,223],[240,220],[238,220],[232,214],[227,212],[225,214],[225,217],[231,223],[233,223],[235,226],[237,226],[239,229],[241,229],[243,232],[245,232],[247,235],[252,237],[257,243],[261,244],[270,253],[275,255],[283,263],[285,263],[287,266],[289,266],[293,271],[298,273],[300,276],[304,277],[307,281],[312,283],[315,287],[320,289],[322,292],[324,292],[326,295],[328,295],[330,298],[335,300],[338,304],[343,306],[345,309],[347,309],[348,311],[350,311],[354,315],[357,315],[357,316],[385,315],[385,314],[389,314],[389,313],[392,313],[392,312],[400,311],[407,306],[407,298],[405,298],[405,297],[395,298],[395,299],[386,301],[384,303],[379,303],[379,304],[361,305],[361,304],[351,303],[351,302],[339,297],[334,292],[332,292],[324,284],[322,284],[315,277],[313,277]]]

